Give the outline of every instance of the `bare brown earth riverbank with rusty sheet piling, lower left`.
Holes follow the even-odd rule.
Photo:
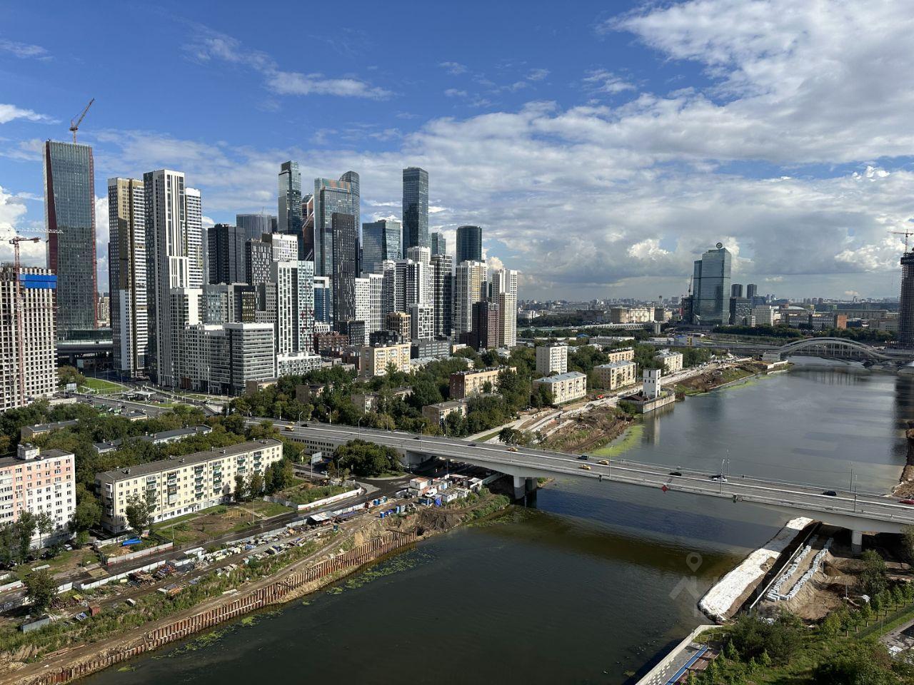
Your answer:
[[[284,604],[313,593],[417,541],[501,511],[508,503],[507,498],[486,492],[459,507],[420,509],[406,516],[385,519],[365,518],[357,525],[350,524],[345,532],[335,535],[329,543],[305,558],[281,565],[275,573],[250,584],[237,577],[234,583],[228,584],[231,586],[225,592],[207,597],[160,620],[141,621],[139,625],[123,622],[122,625],[121,619],[129,616],[129,611],[104,611],[78,627],[104,625],[107,621],[114,629],[104,638],[84,636],[71,639],[65,647],[41,657],[39,661],[32,660],[38,657],[35,651],[18,655],[5,653],[0,657],[0,667],[6,671],[0,675],[0,683],[51,685],[76,680],[265,606]],[[270,558],[276,564],[280,563],[279,560],[279,556]],[[229,571],[228,574],[243,573],[244,568]],[[219,571],[214,570],[213,575],[221,577]],[[204,585],[203,582],[200,585]],[[176,595],[175,601],[180,601],[182,596],[186,595]],[[155,595],[155,599],[159,597]],[[133,607],[134,616],[142,611],[141,600]],[[58,626],[52,624],[45,630],[59,630]],[[120,630],[116,629],[118,626]],[[142,633],[138,633],[140,627]],[[36,631],[32,637],[39,637],[41,632]]]

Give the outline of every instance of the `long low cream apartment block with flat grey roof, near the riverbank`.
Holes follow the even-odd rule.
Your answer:
[[[231,501],[237,475],[250,482],[252,474],[262,476],[280,459],[282,442],[263,438],[96,473],[101,525],[110,532],[126,530],[127,507],[134,497],[150,498],[154,502],[153,522]]]

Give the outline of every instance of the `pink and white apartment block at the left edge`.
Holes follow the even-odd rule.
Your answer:
[[[44,270],[44,269],[42,269]],[[23,512],[48,514],[55,530],[49,537],[69,535],[67,523],[76,510],[76,465],[71,452],[41,450],[20,443],[15,457],[0,458],[0,524],[19,520]],[[32,544],[44,537],[36,532]]]

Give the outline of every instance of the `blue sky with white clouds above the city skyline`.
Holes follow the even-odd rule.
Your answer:
[[[366,220],[423,166],[430,225],[482,225],[521,298],[683,294],[718,240],[764,292],[895,295],[910,9],[3,3],[0,233],[43,225],[40,142],[94,97],[101,290],[109,176],[182,170],[231,222],[275,213],[292,158],[305,184],[362,174]]]

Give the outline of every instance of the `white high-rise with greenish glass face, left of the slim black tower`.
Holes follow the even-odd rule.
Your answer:
[[[314,348],[314,262],[275,261],[276,353],[311,353]]]

